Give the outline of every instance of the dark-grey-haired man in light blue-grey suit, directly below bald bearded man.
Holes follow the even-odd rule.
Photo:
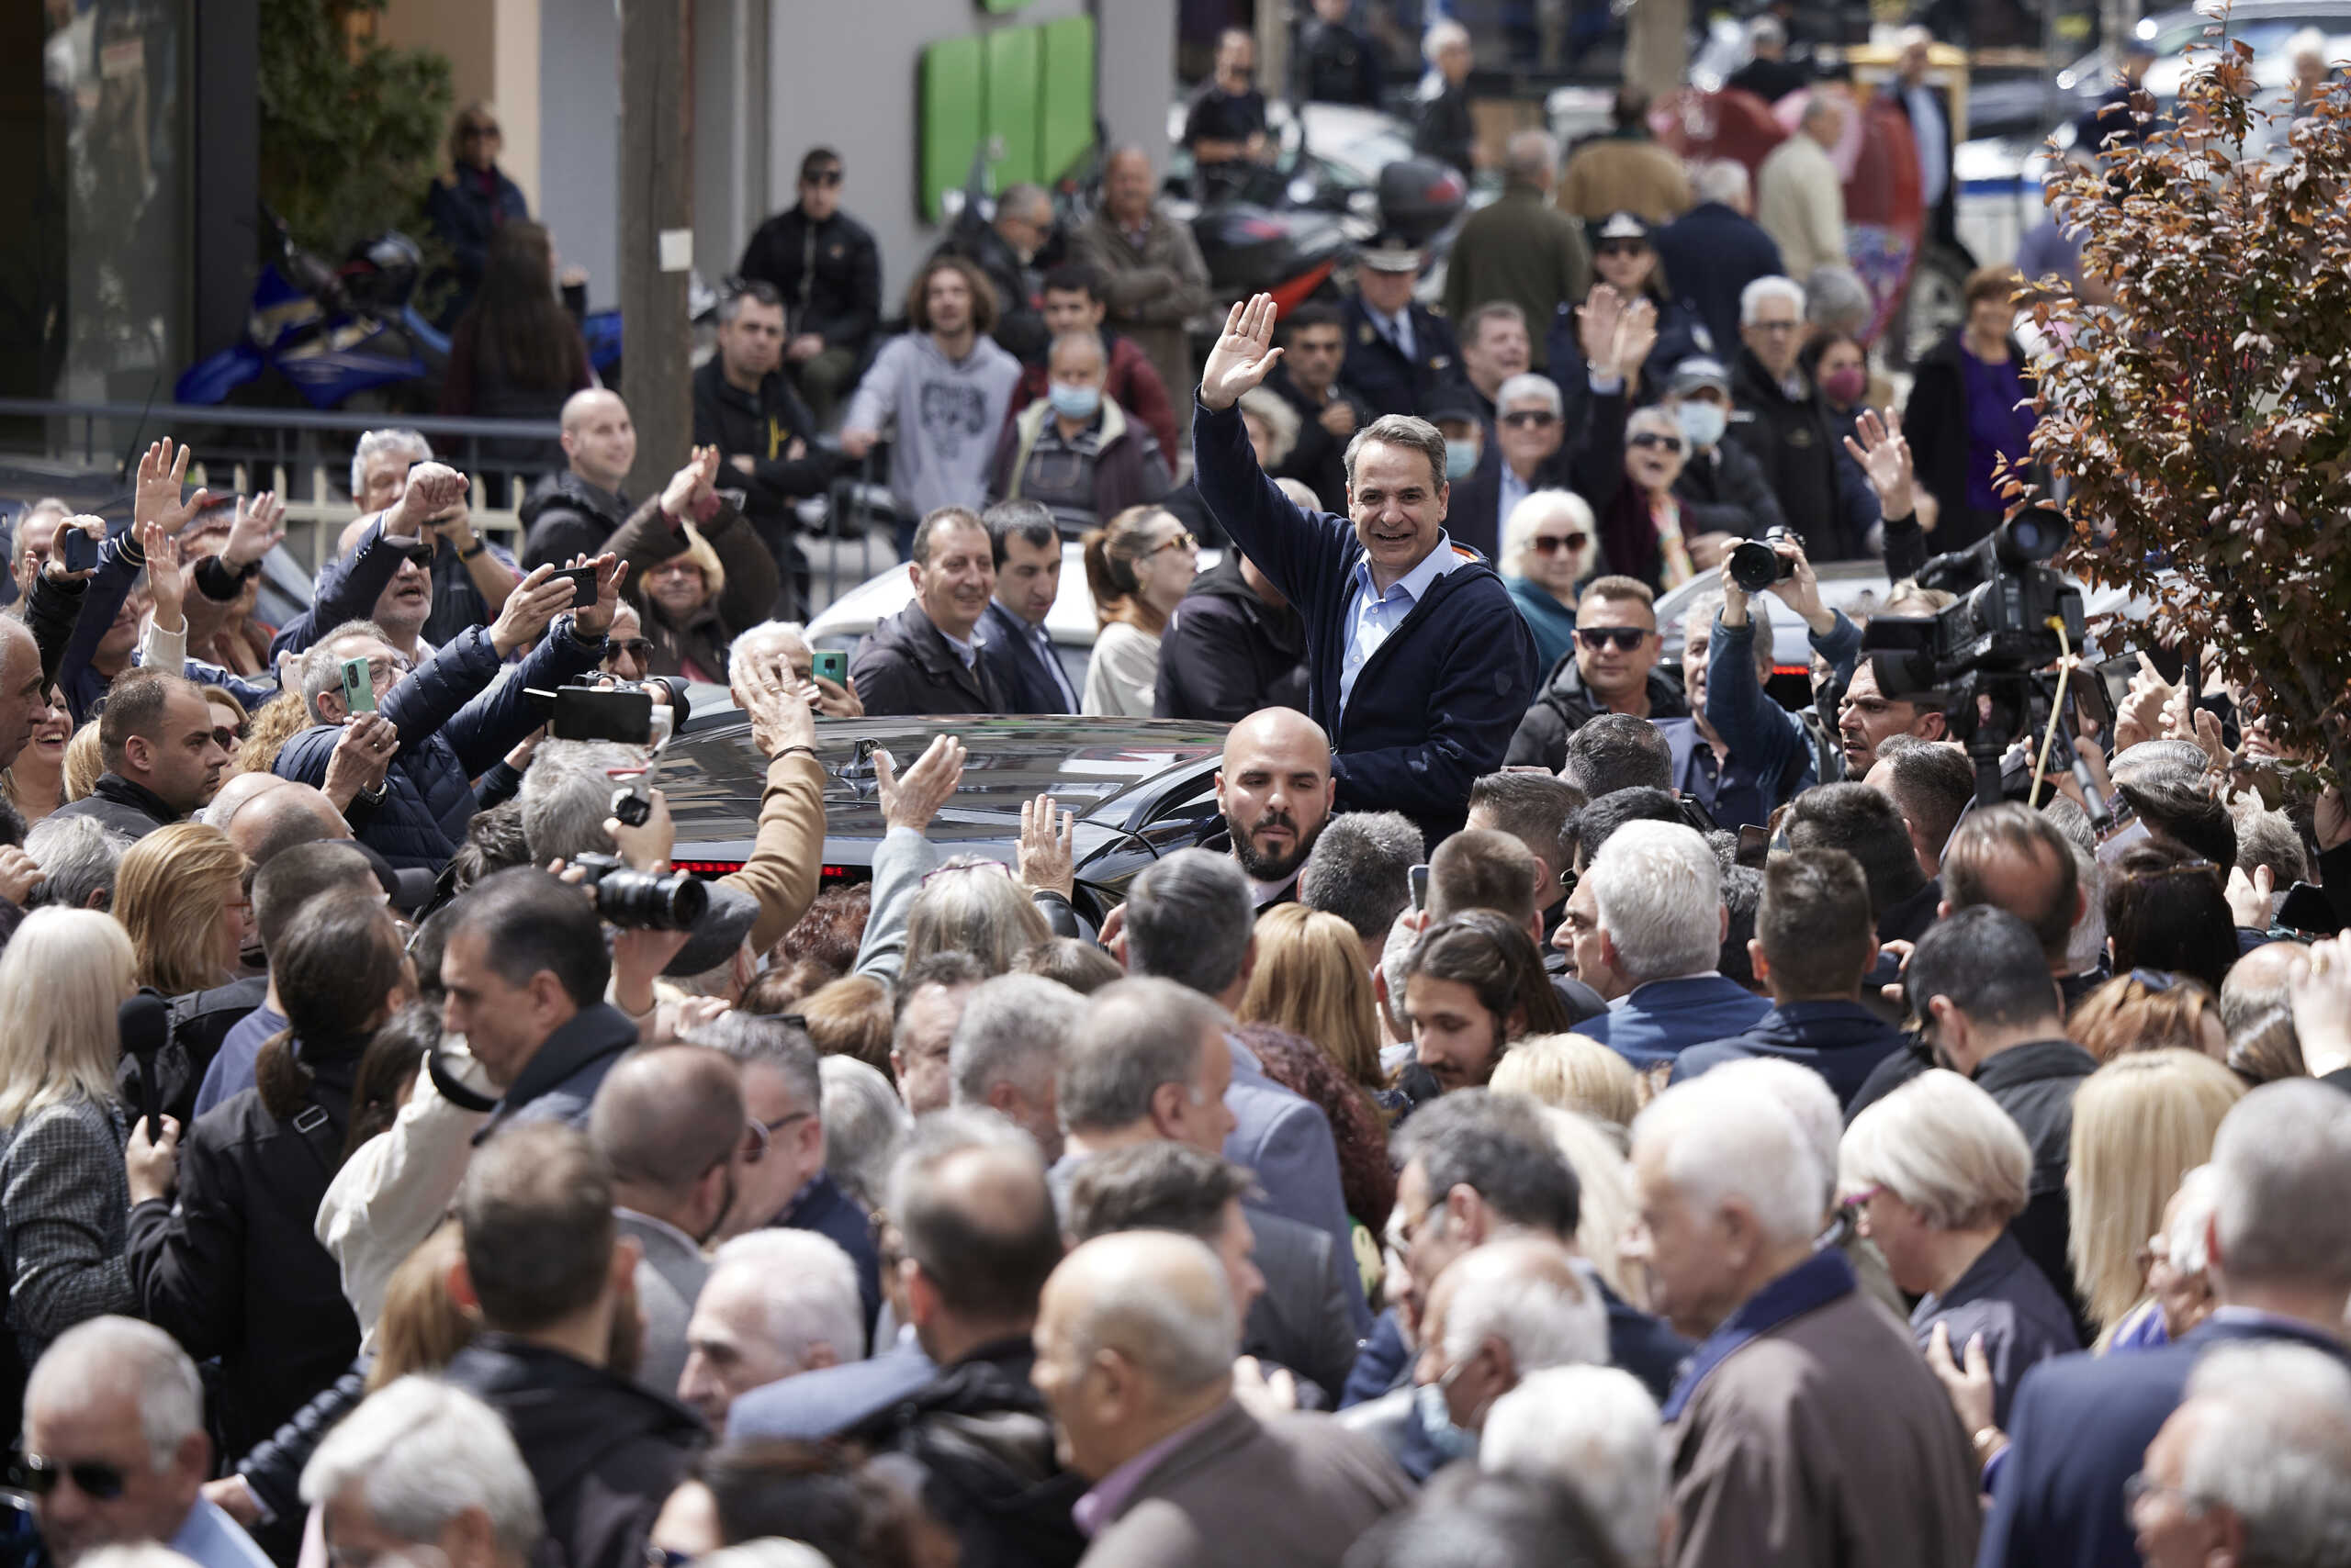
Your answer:
[[[1255,905],[1232,856],[1185,849],[1136,877],[1121,910],[1126,971],[1173,980],[1230,1016],[1258,961]],[[1237,1034],[1225,1034],[1230,1065],[1218,1079],[1230,1126],[1223,1154],[1258,1173],[1267,1213],[1312,1225],[1340,1258],[1354,1255],[1347,1201],[1338,1185],[1338,1143],[1321,1107],[1281,1088]],[[1065,1119],[1067,1119],[1067,1107]],[[1215,1145],[1204,1145],[1215,1147]],[[1371,1321],[1361,1288],[1349,1291],[1357,1326]]]

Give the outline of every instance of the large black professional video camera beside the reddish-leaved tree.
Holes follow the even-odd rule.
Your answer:
[[[1862,632],[1886,696],[1942,698],[1947,733],[1975,762],[1977,804],[2001,799],[2008,743],[2048,722],[2055,679],[2041,670],[2083,649],[2081,590],[2048,564],[2071,538],[2064,512],[2029,505],[1918,569],[1918,585],[1958,595],[1954,604],[1933,616],[1871,616]]]

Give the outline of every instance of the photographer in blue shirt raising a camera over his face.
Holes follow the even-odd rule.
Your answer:
[[[1803,555],[1803,541],[1780,534],[1759,543],[1780,557],[1782,571],[1763,592],[1803,616],[1813,651],[1829,663],[1838,686],[1850,684],[1862,632],[1846,611],[1820,602],[1820,578]],[[1737,562],[1737,555],[1723,559],[1721,611],[1712,618],[1712,630],[1702,630],[1700,602],[1690,607],[1681,639],[1681,679],[1690,693],[1690,712],[1697,715],[1697,731],[1716,750],[1716,766],[1704,771],[1714,773],[1716,795],[1730,797],[1726,806],[1688,778],[1695,769],[1683,766],[1681,745],[1674,748],[1676,785],[1697,792],[1714,811],[1714,820],[1726,827],[1768,823],[1773,806],[1799,790],[1836,783],[1820,778],[1817,759],[1834,748],[1827,733],[1815,733],[1817,717],[1789,712],[1763,691],[1773,654],[1770,618],[1749,611],[1751,595],[1740,588]]]

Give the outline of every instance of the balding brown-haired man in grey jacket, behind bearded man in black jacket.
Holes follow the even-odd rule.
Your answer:
[[[734,1204],[743,1126],[736,1065],[708,1046],[625,1058],[588,1110],[588,1138],[611,1166],[614,1220],[642,1253],[637,1382],[663,1396],[686,1371],[686,1324],[710,1276],[703,1246]]]

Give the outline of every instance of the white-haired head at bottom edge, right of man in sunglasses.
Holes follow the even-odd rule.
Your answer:
[[[320,1441],[301,1500],[322,1509],[329,1561],[524,1568],[545,1521],[505,1422],[433,1378],[367,1396]]]

